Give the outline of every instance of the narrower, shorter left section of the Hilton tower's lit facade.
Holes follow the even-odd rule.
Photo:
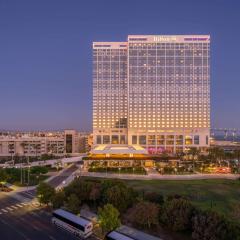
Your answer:
[[[108,134],[98,144],[126,143],[127,44],[93,44],[93,130]],[[125,131],[126,132],[126,131]],[[111,139],[111,142],[110,142]],[[120,141],[119,141],[120,139]]]

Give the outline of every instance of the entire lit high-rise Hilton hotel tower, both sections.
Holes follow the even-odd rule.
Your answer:
[[[209,35],[93,43],[94,144],[151,153],[209,145]]]

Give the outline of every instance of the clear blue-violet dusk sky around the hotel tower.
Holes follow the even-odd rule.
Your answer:
[[[0,0],[0,129],[91,130],[92,42],[211,35],[211,124],[240,128],[240,1]]]

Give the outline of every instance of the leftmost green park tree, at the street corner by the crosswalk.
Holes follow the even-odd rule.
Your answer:
[[[55,189],[45,182],[41,182],[37,187],[37,198],[40,204],[49,204],[55,194]]]

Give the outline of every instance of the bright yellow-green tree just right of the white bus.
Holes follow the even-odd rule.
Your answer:
[[[110,232],[120,226],[119,212],[112,204],[106,204],[98,210],[99,224],[103,233]]]

